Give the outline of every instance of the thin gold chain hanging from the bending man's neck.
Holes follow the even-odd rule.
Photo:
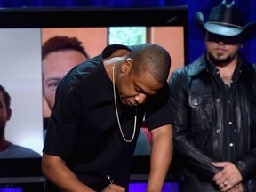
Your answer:
[[[117,62],[117,61],[118,61],[118,60],[116,60],[116,62]],[[132,138],[131,138],[131,140],[127,140],[127,139],[124,137],[124,132],[123,132],[122,127],[121,127],[121,124],[120,124],[120,120],[119,120],[119,116],[118,116],[118,110],[117,110],[117,104],[116,104],[116,87],[115,87],[115,76],[114,76],[114,70],[115,70],[115,68],[116,68],[116,62],[114,63],[114,65],[113,65],[113,67],[112,67],[112,76],[113,76],[112,82],[113,82],[113,93],[114,93],[114,101],[115,101],[115,109],[116,109],[116,119],[117,119],[118,127],[119,127],[119,130],[120,130],[120,132],[121,132],[121,135],[122,135],[123,139],[124,139],[126,142],[132,142],[132,140],[134,139],[135,131],[136,131],[138,107],[136,106],[136,112],[135,112],[135,116],[134,116],[134,127],[133,127],[133,132],[132,132]]]

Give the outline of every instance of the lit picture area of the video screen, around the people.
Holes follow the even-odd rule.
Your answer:
[[[56,36],[76,37],[90,58],[100,54],[108,44],[156,43],[163,45],[170,52],[172,70],[184,65],[182,27],[1,28],[0,36],[3,38],[0,52],[0,84],[9,92],[12,100],[12,117],[5,127],[6,139],[38,153],[42,151],[43,131],[47,128],[42,117],[49,118],[51,114],[43,91],[42,46],[47,40]],[[61,66],[66,72],[72,67],[64,65],[63,61],[60,68],[52,68],[52,73],[63,73]],[[57,84],[55,85],[57,87]],[[149,155],[150,135],[147,127],[142,127],[141,131],[145,136],[142,136],[144,133],[140,135],[135,155]],[[148,142],[143,140],[145,138]]]

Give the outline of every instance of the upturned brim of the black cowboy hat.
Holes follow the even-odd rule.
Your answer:
[[[196,12],[195,21],[198,27],[202,30],[206,30],[212,34],[220,36],[239,36],[243,34],[245,39],[256,36],[256,23],[249,23],[244,28],[236,28],[211,22],[204,23],[204,15],[202,12]]]

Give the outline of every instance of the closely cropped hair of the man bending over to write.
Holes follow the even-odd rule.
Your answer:
[[[129,55],[135,74],[148,71],[160,84],[166,82],[170,68],[171,56],[159,44],[140,44]]]

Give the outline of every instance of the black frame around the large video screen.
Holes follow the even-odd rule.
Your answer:
[[[3,8],[0,10],[0,28],[84,28],[84,27],[115,27],[115,26],[181,26],[184,29],[184,61],[188,63],[188,6],[172,7],[70,7],[70,8]],[[42,118],[43,124],[43,118]],[[35,159],[33,164],[26,160],[0,160],[0,170],[15,166],[29,166],[24,177],[40,177],[42,182],[41,161]],[[32,160],[33,161],[33,160]],[[149,156],[135,156],[132,160],[131,181],[148,180]],[[19,165],[20,164],[20,165]],[[143,164],[143,166],[142,166]],[[33,169],[31,169],[33,166]],[[171,166],[172,167],[172,166]],[[12,170],[12,169],[11,169]],[[19,168],[18,168],[19,170]],[[33,171],[32,171],[33,170]],[[31,172],[30,172],[31,171]],[[36,171],[36,173],[35,173]],[[8,175],[13,178],[17,172]],[[171,172],[172,175],[172,172]],[[22,177],[22,175],[19,176]],[[6,175],[0,174],[0,178]],[[168,177],[172,180],[172,177]],[[11,180],[10,180],[11,181]],[[29,180],[27,180],[29,181]],[[26,182],[27,182],[26,181]],[[15,182],[15,180],[13,181]]]

